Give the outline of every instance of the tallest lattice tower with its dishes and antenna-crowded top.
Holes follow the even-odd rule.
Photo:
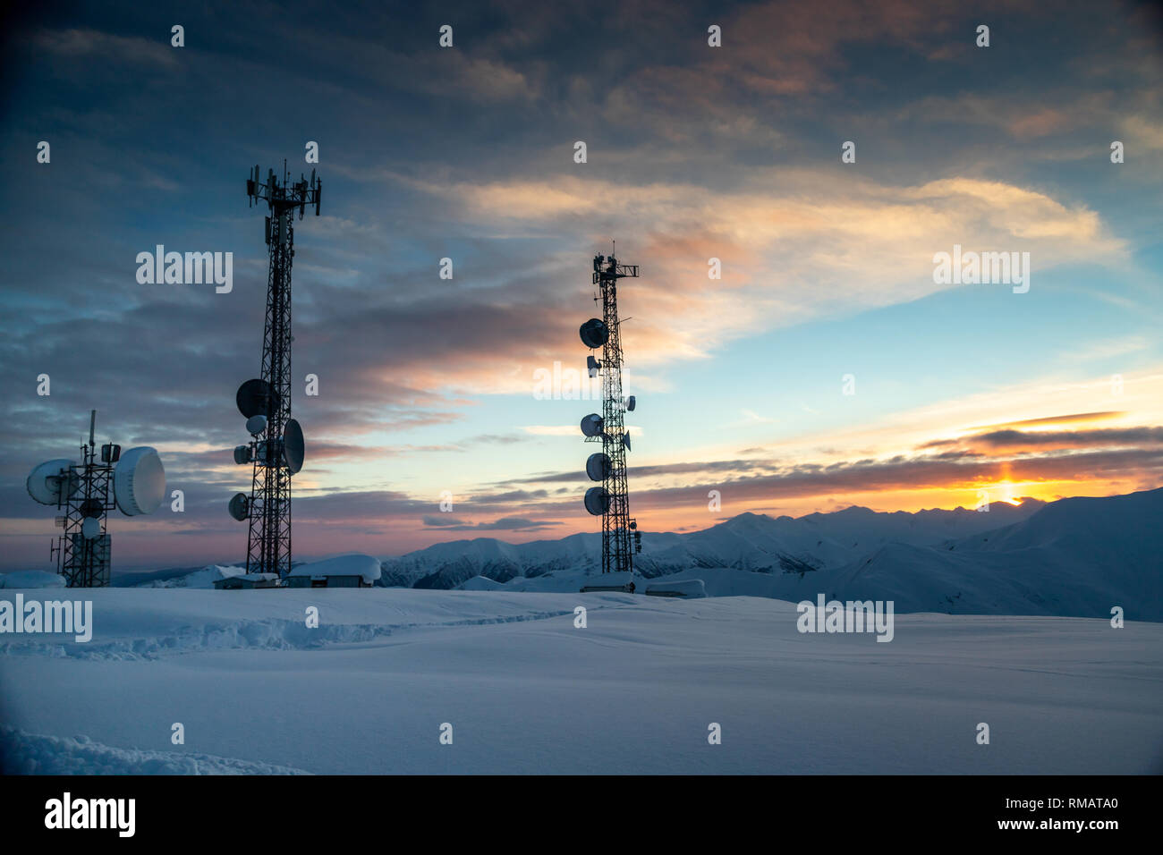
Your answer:
[[[302,468],[304,439],[291,418],[291,263],[294,258],[294,214],[308,205],[319,216],[323,183],[301,177],[291,183],[284,164],[281,179],[269,170],[259,183],[258,166],[247,179],[250,204],[266,202],[266,323],[263,330],[262,376],[238,387],[236,402],[247,416],[250,443],[234,450],[235,462],[251,463],[250,496],[236,494],[230,514],[249,519],[247,572],[278,573],[291,570],[291,476]]]

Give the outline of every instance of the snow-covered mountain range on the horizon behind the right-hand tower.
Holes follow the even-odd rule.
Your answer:
[[[849,507],[793,519],[744,513],[687,534],[644,533],[635,570],[700,578],[709,596],[893,600],[899,612],[1163,620],[1163,489],[965,508]],[[438,543],[383,562],[380,584],[577,590],[600,535]]]

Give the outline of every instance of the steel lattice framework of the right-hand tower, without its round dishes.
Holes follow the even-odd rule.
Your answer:
[[[602,486],[609,497],[609,506],[601,515],[601,572],[632,572],[634,548],[632,528],[637,523],[630,519],[630,494],[626,478],[626,451],[629,433],[626,429],[626,401],[622,397],[622,335],[618,316],[618,280],[637,277],[638,265],[619,264],[609,258],[594,258],[593,284],[600,287],[594,300],[601,300],[602,321],[609,335],[601,349],[599,371],[602,377],[601,416],[602,430],[586,442],[601,442],[601,450],[609,457],[609,469]]]

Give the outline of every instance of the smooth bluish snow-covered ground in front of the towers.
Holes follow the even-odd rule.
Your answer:
[[[883,643],[800,634],[758,597],[67,593],[93,600],[91,642],[0,636],[5,770],[1163,770],[1161,624],[898,614]]]

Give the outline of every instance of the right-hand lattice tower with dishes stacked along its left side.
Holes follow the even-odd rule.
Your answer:
[[[586,491],[585,507],[601,516],[601,572],[633,572],[634,554],[642,550],[642,533],[630,519],[630,496],[626,478],[626,454],[630,450],[630,435],[625,416],[635,407],[634,396],[622,397],[622,335],[618,316],[618,280],[637,277],[636,264],[619,264],[609,258],[593,259],[593,284],[600,293],[601,318],[591,318],[582,325],[582,342],[590,349],[601,348],[601,361],[587,358],[591,377],[601,376],[601,415],[590,413],[582,420],[586,442],[601,442],[601,451],[590,455],[586,475],[601,482]]]

